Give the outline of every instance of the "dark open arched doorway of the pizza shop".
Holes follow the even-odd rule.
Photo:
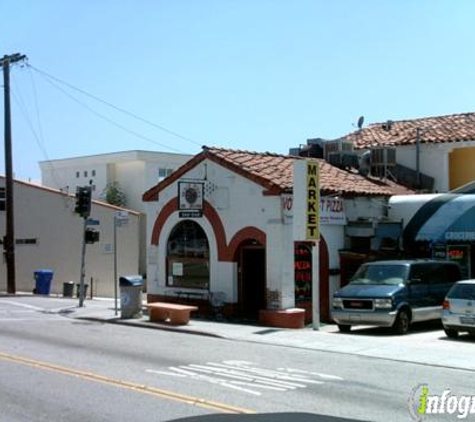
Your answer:
[[[256,240],[247,240],[239,245],[236,255],[239,315],[255,320],[266,307],[266,249]]]

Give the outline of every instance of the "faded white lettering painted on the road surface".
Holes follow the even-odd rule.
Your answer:
[[[170,366],[163,371],[147,369],[146,372],[206,381],[255,396],[262,395],[259,390],[286,392],[306,388],[308,385],[343,381],[343,378],[335,375],[292,368],[266,369],[238,360]]]

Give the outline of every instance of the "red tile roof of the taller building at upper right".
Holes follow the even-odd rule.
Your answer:
[[[342,139],[353,142],[355,149],[384,145],[412,145],[416,143],[417,129],[420,129],[421,143],[475,140],[475,113],[398,120],[392,122],[389,131],[383,129],[384,124],[371,124]]]

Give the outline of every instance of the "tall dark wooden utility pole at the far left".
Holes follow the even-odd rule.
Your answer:
[[[5,98],[5,211],[6,230],[3,239],[3,251],[7,263],[7,292],[16,293],[15,282],[15,232],[13,213],[13,159],[12,159],[12,123],[10,111],[10,64],[25,60],[20,53],[3,56],[3,86]]]

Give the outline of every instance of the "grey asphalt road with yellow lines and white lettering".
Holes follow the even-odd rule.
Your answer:
[[[475,394],[469,371],[80,321],[49,304],[0,298],[1,421],[406,422],[420,384]]]

